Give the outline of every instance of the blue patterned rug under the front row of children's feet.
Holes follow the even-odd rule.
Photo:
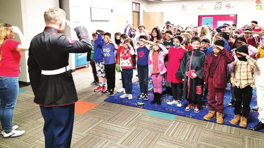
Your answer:
[[[149,84],[149,88],[151,88],[153,85]],[[163,88],[164,89],[164,88]],[[132,106],[132,107],[137,107],[136,103],[137,102],[144,102],[144,106],[140,106],[137,108],[142,108],[142,109],[147,109],[147,110],[153,110],[153,111],[161,111],[161,112],[166,112],[166,113],[171,113],[171,114],[176,114],[180,116],[185,116],[185,117],[190,117],[198,120],[204,120],[203,116],[208,113],[209,107],[208,107],[208,101],[207,99],[202,99],[202,104],[199,106],[199,112],[195,113],[193,110],[191,111],[185,111],[184,108],[188,104],[186,100],[182,101],[182,107],[177,107],[176,105],[167,105],[167,102],[172,99],[172,96],[166,94],[162,96],[162,105],[158,106],[156,104],[152,105],[150,102],[153,100],[153,92],[149,92],[149,100],[143,100],[143,99],[136,99],[136,96],[139,94],[139,83],[135,82],[132,84],[132,95],[133,99],[129,100],[128,98],[120,98],[119,96],[122,95],[122,93],[116,93],[114,96],[111,96],[107,99],[105,99],[106,102],[112,102],[112,103],[117,103],[117,104],[122,104],[122,105],[127,105],[127,106]],[[234,126],[229,123],[230,120],[233,119],[234,117],[234,107],[228,107],[227,104],[228,102],[231,101],[231,92],[230,92],[230,85],[227,86],[227,90],[224,95],[224,124],[228,126]],[[256,97],[256,92],[253,91],[253,97],[251,99],[250,103],[250,108],[253,108],[254,106],[257,105],[257,97]],[[205,120],[206,121],[206,120]],[[216,118],[212,119],[209,122],[215,122],[216,123]],[[253,111],[251,110],[250,115],[247,119],[247,128],[246,129],[253,129],[255,125],[257,125],[259,122],[258,120],[258,111]],[[238,125],[234,126],[241,128]],[[264,132],[264,129],[260,130],[261,132]]]

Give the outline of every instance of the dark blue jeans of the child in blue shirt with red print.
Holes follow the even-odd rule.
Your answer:
[[[149,66],[137,64],[140,93],[148,94]]]

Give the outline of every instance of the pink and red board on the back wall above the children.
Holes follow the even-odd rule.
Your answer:
[[[198,26],[210,25],[213,28],[222,26],[223,23],[237,24],[238,15],[206,15],[198,16]]]

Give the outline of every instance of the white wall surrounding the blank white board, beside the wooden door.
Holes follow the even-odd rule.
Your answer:
[[[115,32],[123,33],[127,25],[126,20],[132,22],[132,2],[140,3],[140,22],[143,22],[142,10],[148,4],[147,0],[61,0],[61,2],[64,7],[64,3],[69,3],[69,14],[66,15],[70,16],[70,21],[80,20],[81,22],[76,23],[76,25],[85,26],[90,36],[97,29],[110,32],[111,34]],[[76,7],[79,7],[78,13],[75,12]],[[90,7],[113,9],[112,13],[109,10],[109,22],[92,22]],[[74,34],[74,32],[71,33]]]

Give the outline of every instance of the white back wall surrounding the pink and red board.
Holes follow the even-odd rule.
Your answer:
[[[222,9],[214,10],[217,1],[222,1]],[[188,10],[182,11],[183,2],[188,6]],[[234,9],[228,10],[225,4],[235,4]],[[207,10],[197,10],[199,5],[203,4]],[[198,25],[198,15],[229,15],[237,14],[237,26],[250,24],[252,20],[257,20],[259,24],[264,25],[264,10],[256,10],[255,0],[184,0],[184,1],[163,1],[149,2],[146,6],[146,12],[164,12],[164,23],[169,20],[175,25],[183,27],[189,25]]]

